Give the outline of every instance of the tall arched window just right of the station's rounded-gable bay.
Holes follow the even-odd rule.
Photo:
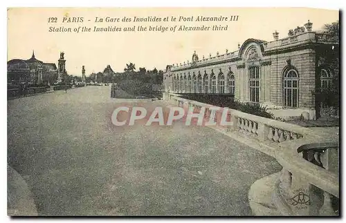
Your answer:
[[[295,69],[287,69],[284,72],[284,106],[298,107],[298,80],[298,72]]]

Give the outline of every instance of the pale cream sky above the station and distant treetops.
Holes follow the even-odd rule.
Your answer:
[[[313,30],[325,23],[338,20],[337,10],[312,8],[10,8],[8,9],[8,60],[29,59],[35,50],[37,59],[57,64],[64,51],[66,70],[69,75],[86,75],[102,72],[110,65],[115,72],[122,72],[129,62],[136,69],[157,68],[165,70],[168,64],[191,61],[196,50],[203,55],[223,54],[237,50],[238,43],[246,39],[273,41],[277,30],[280,39],[287,37],[290,29],[304,26],[308,19]],[[230,17],[238,15],[238,21],[224,22],[142,22],[100,23],[98,18],[128,17]],[[48,18],[57,17],[57,23]],[[62,18],[83,17],[83,22],[62,23]],[[90,20],[90,21],[89,21]],[[93,26],[118,28],[133,26],[227,26],[226,31],[180,31],[180,32],[48,32],[49,27],[78,28]]]

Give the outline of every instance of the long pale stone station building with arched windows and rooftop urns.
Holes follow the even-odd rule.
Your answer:
[[[300,108],[316,118],[313,92],[320,85],[320,52],[338,50],[338,37],[311,30],[296,31],[284,39],[279,39],[275,32],[275,41],[247,39],[239,50],[226,50],[223,55],[217,52],[201,59],[194,52],[192,62],[167,66],[165,90],[232,94],[240,101],[268,108]]]

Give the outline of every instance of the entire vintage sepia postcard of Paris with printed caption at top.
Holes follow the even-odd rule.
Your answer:
[[[8,8],[8,215],[340,216],[339,13]]]

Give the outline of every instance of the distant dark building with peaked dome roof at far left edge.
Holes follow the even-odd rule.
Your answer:
[[[64,69],[63,65],[62,72],[66,72]],[[36,59],[34,51],[30,59],[11,59],[7,62],[8,83],[11,84],[53,84],[57,81],[58,72],[54,63]]]

